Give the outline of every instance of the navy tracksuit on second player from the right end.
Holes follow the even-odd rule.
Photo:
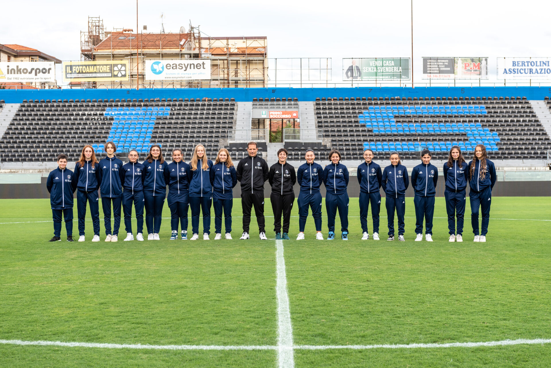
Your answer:
[[[466,162],[458,163],[458,160],[452,160],[451,167],[448,163],[444,164],[444,180],[446,188],[444,197],[446,198],[446,212],[448,215],[448,230],[450,235],[463,234],[463,215],[465,213],[466,188],[469,182],[469,166]],[[455,218],[457,215],[457,232],[455,227]]]

